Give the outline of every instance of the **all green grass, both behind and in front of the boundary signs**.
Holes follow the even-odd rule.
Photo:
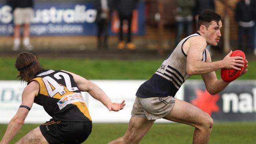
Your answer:
[[[79,74],[87,79],[148,79],[161,65],[163,59],[150,60],[101,60],[74,58],[43,58],[39,61],[45,69],[63,69]],[[18,72],[14,68],[14,57],[0,57],[0,80],[15,80]],[[249,71],[239,79],[256,79],[256,61],[249,61]],[[220,79],[220,70],[216,72]],[[192,76],[190,79],[201,79]],[[15,139],[14,144],[26,133],[39,124],[25,124]],[[93,123],[93,131],[83,144],[106,144],[121,137],[128,124]],[[7,125],[0,124],[0,138]],[[209,144],[255,144],[256,122],[215,123]],[[193,127],[176,123],[156,123],[140,144],[191,144]]]

